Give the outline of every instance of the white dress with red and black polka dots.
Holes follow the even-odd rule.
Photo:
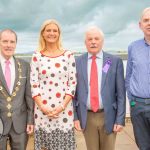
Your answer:
[[[57,57],[36,52],[31,61],[32,97],[40,95],[42,103],[55,108],[63,103],[66,94],[74,96],[76,87],[76,67],[73,53],[65,51]],[[35,104],[35,150],[74,150],[73,103],[59,114],[57,119],[49,119]]]

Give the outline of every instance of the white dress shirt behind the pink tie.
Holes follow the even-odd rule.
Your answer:
[[[2,70],[3,70],[3,75],[5,77],[5,63],[6,59],[0,54],[0,63],[1,63],[1,66],[2,66]],[[11,85],[10,85],[10,94],[12,93],[13,91],[13,88],[14,88],[14,82],[15,82],[15,78],[16,78],[16,73],[15,73],[15,60],[13,57],[11,57],[9,59],[10,61],[10,64],[9,64],[9,67],[10,67],[10,71],[11,71]]]

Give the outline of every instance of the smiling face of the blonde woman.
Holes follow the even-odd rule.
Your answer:
[[[45,27],[43,31],[43,38],[46,41],[46,43],[57,43],[59,40],[59,29],[56,24],[49,24]]]

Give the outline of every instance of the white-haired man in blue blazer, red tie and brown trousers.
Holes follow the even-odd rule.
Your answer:
[[[91,27],[85,35],[87,53],[76,59],[75,128],[83,130],[88,150],[114,150],[116,133],[125,124],[122,60],[102,51],[103,32]]]

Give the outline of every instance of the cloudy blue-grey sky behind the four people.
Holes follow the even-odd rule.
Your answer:
[[[85,31],[98,26],[105,35],[104,51],[127,51],[143,33],[138,22],[150,0],[0,0],[0,30],[17,32],[17,53],[35,51],[39,31],[47,19],[56,19],[62,30],[63,47],[86,51]]]

